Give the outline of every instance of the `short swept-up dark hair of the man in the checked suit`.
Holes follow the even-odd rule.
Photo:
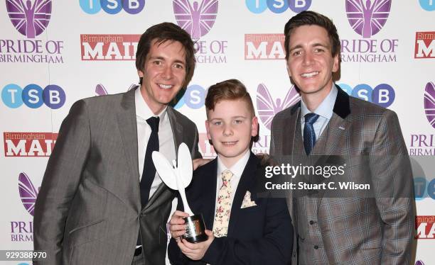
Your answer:
[[[332,56],[338,55],[340,52],[340,38],[338,38],[337,28],[334,23],[326,16],[314,11],[302,11],[290,20],[284,26],[284,49],[286,51],[286,60],[289,60],[289,43],[290,35],[295,28],[305,25],[316,25],[326,29],[329,40],[331,42]]]

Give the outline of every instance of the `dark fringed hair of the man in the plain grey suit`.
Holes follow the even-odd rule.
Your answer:
[[[183,89],[186,89],[195,71],[195,49],[190,35],[183,28],[169,22],[160,23],[148,28],[141,35],[136,51],[136,69],[142,72],[144,72],[146,55],[148,55],[151,49],[153,40],[156,40],[157,45],[166,43],[166,41],[178,41],[183,45],[186,52],[186,78],[183,82]],[[139,79],[139,84],[142,84],[142,78]]]

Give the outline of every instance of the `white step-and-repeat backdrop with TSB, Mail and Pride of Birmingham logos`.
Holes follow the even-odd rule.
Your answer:
[[[295,103],[284,24],[304,10],[338,28],[337,84],[399,115],[414,171],[415,264],[435,264],[434,0],[1,1],[0,249],[32,249],[34,201],[60,123],[78,99],[137,84],[137,42],[156,23],[178,23],[196,40],[195,74],[173,105],[198,125],[203,156],[215,156],[206,90],[231,78],[247,86],[259,115],[253,151],[268,152],[274,113]]]

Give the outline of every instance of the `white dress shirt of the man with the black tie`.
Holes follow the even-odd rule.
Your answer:
[[[159,116],[159,152],[161,152],[166,159],[172,161],[176,159],[175,142],[173,139],[173,133],[171,129],[171,123],[169,123],[167,108],[164,108],[159,115],[154,115],[149,106],[142,98],[140,88],[137,88],[134,94],[134,101],[136,105],[136,124],[137,124],[137,157],[139,159],[139,181],[141,181],[142,171],[144,171],[144,160],[146,153],[146,145],[151,135],[151,127],[146,120],[151,117]],[[156,172],[154,176],[153,184],[151,184],[151,190],[149,191],[149,198],[153,196],[157,188],[161,184],[161,178]]]

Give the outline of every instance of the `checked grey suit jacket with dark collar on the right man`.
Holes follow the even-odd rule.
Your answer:
[[[299,112],[300,102],[277,113],[272,121],[270,153],[277,160],[294,154]],[[409,264],[414,189],[397,115],[338,88],[328,126],[325,154],[353,159],[358,166],[353,167],[352,176],[370,178],[377,196],[321,198],[317,220],[327,255],[324,264]],[[385,196],[387,192],[391,196]],[[293,197],[289,192],[287,204],[292,221],[297,222]],[[295,236],[292,264],[298,264],[297,243]]]

